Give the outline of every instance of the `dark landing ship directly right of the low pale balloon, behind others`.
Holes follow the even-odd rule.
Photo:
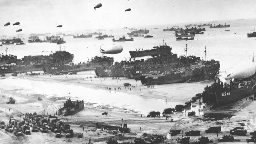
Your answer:
[[[160,46],[153,46],[154,49],[149,50],[137,50],[136,51],[129,51],[132,58],[135,57],[142,57],[142,56],[157,56],[159,54],[170,53],[172,48],[168,45],[160,45]]]

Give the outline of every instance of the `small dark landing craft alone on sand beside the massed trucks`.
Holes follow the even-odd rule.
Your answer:
[[[84,108],[83,100],[71,101],[71,99],[69,98],[64,103],[64,106],[59,109],[58,115],[63,115],[63,116],[73,115],[83,110],[83,108]]]

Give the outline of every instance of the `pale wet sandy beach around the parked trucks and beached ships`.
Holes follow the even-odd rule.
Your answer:
[[[87,78],[88,77],[88,78]],[[92,77],[92,78],[89,78]],[[1,82],[2,81],[2,82]],[[17,83],[13,83],[17,81]],[[65,119],[69,120],[71,128],[74,130],[75,136],[71,139],[65,138],[64,133],[62,133],[62,138],[55,138],[55,134],[49,131],[48,133],[33,132],[31,135],[23,135],[22,137],[16,137],[13,133],[5,132],[4,129],[0,130],[0,140],[3,144],[9,143],[88,143],[88,139],[91,137],[92,142],[105,143],[107,137],[113,136],[111,134],[100,132],[95,128],[96,122],[104,122],[109,125],[119,126],[123,124],[124,121],[127,122],[129,128],[131,128],[130,134],[123,134],[123,137],[118,137],[122,140],[133,141],[133,137],[141,137],[143,133],[147,134],[162,134],[166,135],[170,129],[181,129],[184,132],[189,130],[201,130],[201,136],[208,136],[210,140],[214,142],[217,140],[216,134],[206,134],[204,131],[210,125],[216,125],[221,123],[222,129],[219,133],[219,137],[224,134],[229,134],[229,130],[240,126],[244,123],[244,128],[247,129],[246,136],[234,136],[235,139],[246,139],[249,138],[249,132],[255,129],[255,102],[249,102],[242,99],[235,104],[231,104],[225,107],[218,108],[217,110],[210,111],[206,108],[206,113],[228,113],[234,115],[231,118],[224,118],[221,120],[211,120],[209,118],[203,118],[203,109],[200,109],[200,114],[196,110],[196,116],[185,116],[182,113],[175,113],[172,115],[174,122],[171,122],[171,118],[166,120],[165,117],[147,118],[146,114],[150,111],[158,111],[157,107],[172,107],[176,104],[184,104],[189,101],[191,97],[195,96],[197,93],[201,93],[203,88],[210,85],[213,81],[203,81],[197,83],[179,83],[179,84],[167,84],[167,85],[155,85],[154,88],[147,88],[146,86],[141,86],[140,81],[126,80],[121,78],[120,80],[112,80],[112,78],[94,78],[93,71],[78,73],[77,75],[39,75],[39,76],[28,76],[28,75],[18,75],[18,77],[12,77],[7,75],[0,79],[0,93],[5,95],[5,98],[0,98],[0,120],[8,123],[8,118],[12,115],[16,119],[21,119],[20,115],[26,112],[33,113],[37,112],[42,114],[44,109],[46,114],[56,113],[58,107],[63,106],[63,101],[67,98],[68,91],[71,91],[71,99],[84,99],[85,108],[84,110],[78,112],[76,115],[67,117],[60,116],[62,121]],[[21,84],[20,84],[21,82]],[[23,82],[23,83],[22,83]],[[41,82],[41,89],[39,85]],[[130,89],[123,89],[123,83],[130,83],[135,86]],[[30,83],[31,85],[28,85]],[[36,86],[37,85],[37,86]],[[54,87],[56,85],[56,88]],[[70,89],[67,89],[70,87]],[[111,90],[106,90],[106,87],[110,87]],[[121,89],[118,89],[120,87]],[[73,88],[73,89],[72,89]],[[92,90],[94,92],[101,91],[102,94],[110,93],[110,95],[117,95],[121,98],[114,102],[94,102],[93,97],[87,98],[86,95],[94,95],[93,93],[84,93],[82,89]],[[117,90],[114,90],[116,88]],[[74,90],[81,89],[82,93],[74,92]],[[57,91],[57,92],[56,92]],[[60,92],[61,91],[61,92]],[[90,91],[89,91],[90,92]],[[80,96],[84,95],[84,96]],[[126,99],[123,99],[122,96]],[[148,105],[146,102],[150,101],[149,107],[143,108],[143,111],[133,110],[129,108],[139,109],[140,107],[135,107],[132,103],[125,103],[128,96],[134,100],[134,105],[136,100],[143,99],[145,103],[141,104],[143,107]],[[17,104],[6,104],[8,97],[12,96],[17,100]],[[42,101],[38,101],[38,96],[43,98]],[[102,95],[102,97],[110,97],[109,95]],[[115,98],[115,97],[114,97]],[[110,97],[111,99],[111,97]],[[167,103],[165,102],[167,99]],[[152,100],[156,102],[156,105],[151,104]],[[120,102],[120,105],[116,103]],[[125,105],[129,104],[129,105]],[[152,106],[151,106],[152,105]],[[192,105],[197,106],[196,103]],[[151,107],[151,108],[150,108]],[[9,108],[10,112],[9,112]],[[5,109],[7,111],[5,112]],[[228,109],[228,110],[227,110]],[[160,111],[161,110],[161,111]],[[102,115],[103,112],[107,111],[108,115]],[[159,109],[162,113],[163,109]],[[190,110],[187,111],[187,113]],[[140,117],[140,114],[143,114]],[[121,119],[123,118],[123,122]],[[82,131],[80,125],[85,125],[85,130],[83,132],[83,138],[77,138],[77,133]],[[142,130],[140,131],[140,127]],[[99,133],[99,134],[97,134]],[[119,132],[120,134],[120,132]],[[182,134],[172,137],[172,139],[177,139]],[[199,136],[190,136],[190,142],[196,141]],[[125,142],[126,142],[125,141]],[[170,140],[171,141],[171,140]],[[177,143],[177,141],[174,141]],[[170,142],[171,143],[171,142]],[[233,142],[234,143],[234,142]],[[237,143],[246,143],[245,141]]]

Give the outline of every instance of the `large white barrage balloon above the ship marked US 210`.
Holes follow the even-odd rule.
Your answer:
[[[234,67],[230,73],[225,77],[226,80],[228,79],[243,79],[254,75],[256,72],[256,64],[249,61],[241,63]]]

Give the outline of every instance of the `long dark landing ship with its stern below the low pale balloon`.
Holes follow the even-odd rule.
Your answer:
[[[91,59],[91,61],[87,61],[87,63],[78,63],[74,64],[72,62],[69,63],[50,63],[45,64],[43,67],[43,71],[45,73],[50,74],[68,74],[72,72],[79,72],[79,71],[88,71],[88,70],[95,70],[97,67],[109,67],[113,64],[114,58],[112,57],[98,57],[95,56]]]

